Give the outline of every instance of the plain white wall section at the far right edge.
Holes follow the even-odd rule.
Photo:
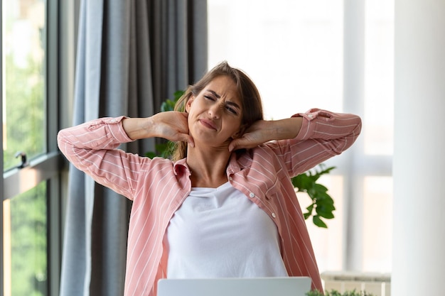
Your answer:
[[[395,1],[392,295],[444,295],[445,2]]]

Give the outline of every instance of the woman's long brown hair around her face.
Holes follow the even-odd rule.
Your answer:
[[[192,95],[197,97],[210,82],[220,76],[230,77],[236,84],[238,96],[241,99],[242,105],[242,129],[245,130],[255,121],[262,120],[262,102],[257,87],[245,72],[230,67],[226,61],[220,62],[220,64],[207,72],[198,82],[190,85],[182,97],[178,99],[178,102],[175,105],[175,110],[182,112],[186,111],[186,103],[188,102],[188,99],[190,99]],[[176,161],[185,158],[187,155],[187,143],[180,141],[174,143],[172,151],[172,160]]]

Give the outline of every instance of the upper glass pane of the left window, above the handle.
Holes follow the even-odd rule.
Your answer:
[[[45,2],[3,5],[4,170],[47,151],[45,138]]]

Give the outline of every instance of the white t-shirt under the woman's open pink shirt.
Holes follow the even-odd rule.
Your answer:
[[[277,226],[229,182],[193,188],[166,235],[167,278],[287,276]]]

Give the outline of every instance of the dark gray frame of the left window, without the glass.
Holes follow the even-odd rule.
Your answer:
[[[3,149],[0,151],[0,178],[2,190],[0,205],[0,295],[4,293],[4,236],[3,201],[47,182],[47,260],[48,295],[60,291],[60,270],[63,246],[63,221],[67,199],[66,184],[68,165],[58,150],[57,133],[71,124],[73,113],[73,89],[75,77],[75,43],[80,0],[45,1],[45,99],[47,152],[29,160],[25,168],[13,168],[4,172]],[[3,13],[3,5],[0,5]],[[0,29],[2,24],[0,22]],[[2,48],[0,38],[0,53]],[[3,61],[0,60],[3,67]],[[3,93],[3,77],[0,72],[0,91]],[[3,99],[3,98],[2,98]],[[3,122],[3,106],[0,104],[0,120]],[[3,129],[0,130],[3,139]]]

